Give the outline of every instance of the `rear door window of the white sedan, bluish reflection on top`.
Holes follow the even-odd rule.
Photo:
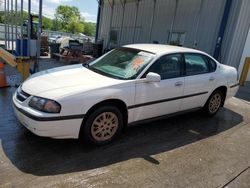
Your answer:
[[[196,75],[209,72],[207,59],[199,54],[184,54],[186,75]]]

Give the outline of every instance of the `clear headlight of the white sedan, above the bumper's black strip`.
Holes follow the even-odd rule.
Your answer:
[[[47,113],[59,113],[61,111],[61,105],[58,102],[41,97],[32,97],[29,106]]]

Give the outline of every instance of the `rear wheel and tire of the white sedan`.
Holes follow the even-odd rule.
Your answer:
[[[208,98],[203,111],[207,116],[214,116],[222,106],[224,95],[220,90],[215,90]]]

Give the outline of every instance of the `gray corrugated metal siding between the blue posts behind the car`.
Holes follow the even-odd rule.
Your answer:
[[[224,8],[225,0],[203,0],[203,9],[199,15],[201,1],[202,0],[179,1],[173,31],[186,33],[184,46],[193,47],[194,42],[197,41],[198,49],[211,54],[216,42],[218,25],[223,13],[221,10]],[[118,44],[124,45],[133,42],[145,43],[152,41],[159,41],[159,43],[166,44],[168,42],[167,40],[171,28],[171,22],[174,17],[175,4],[175,0],[156,0],[152,35],[150,37],[154,1],[141,0],[139,2],[136,28],[134,28],[136,1],[126,3],[123,29],[121,33],[123,8],[120,1],[116,0],[114,5],[112,28],[118,30],[118,35],[122,34],[121,41],[120,43],[118,41]],[[105,1],[100,32],[100,37],[104,38],[104,40],[108,39],[110,12],[110,4]],[[195,31],[198,20],[199,27],[198,35],[196,36]],[[135,41],[133,41],[134,29],[136,30]],[[107,44],[107,41],[105,41],[105,44]]]

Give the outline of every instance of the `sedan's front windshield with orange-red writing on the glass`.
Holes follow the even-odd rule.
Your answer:
[[[135,79],[154,54],[132,48],[118,48],[90,63],[89,69],[117,79]]]

